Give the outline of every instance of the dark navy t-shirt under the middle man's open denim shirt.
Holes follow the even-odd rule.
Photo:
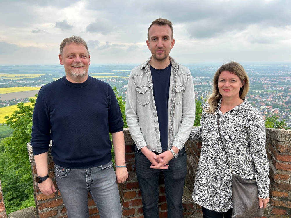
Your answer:
[[[165,69],[150,66],[153,94],[157,109],[162,150],[168,150],[168,102],[172,64]]]

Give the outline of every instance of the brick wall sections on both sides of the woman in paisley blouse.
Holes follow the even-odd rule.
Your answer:
[[[201,142],[188,140],[186,186],[193,190]],[[291,217],[291,131],[266,128],[266,151],[270,165],[270,202],[264,209],[264,217]],[[195,213],[201,206],[194,204]],[[195,215],[195,217],[196,217]]]

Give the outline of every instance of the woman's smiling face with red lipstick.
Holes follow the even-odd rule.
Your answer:
[[[218,90],[222,98],[239,98],[239,90],[243,86],[239,77],[229,71],[222,71],[218,77]]]

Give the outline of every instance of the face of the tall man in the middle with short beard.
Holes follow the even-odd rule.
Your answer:
[[[155,61],[164,61],[169,58],[175,40],[171,38],[172,31],[168,25],[152,25],[149,29],[149,40],[146,40],[148,48]]]

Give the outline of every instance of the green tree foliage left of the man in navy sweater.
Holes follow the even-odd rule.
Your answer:
[[[11,137],[0,143],[0,177],[3,188],[6,212],[35,206],[31,166],[27,153],[27,142],[31,139],[32,113],[35,100],[31,105],[18,103],[11,116],[6,116],[6,123],[14,130]]]

